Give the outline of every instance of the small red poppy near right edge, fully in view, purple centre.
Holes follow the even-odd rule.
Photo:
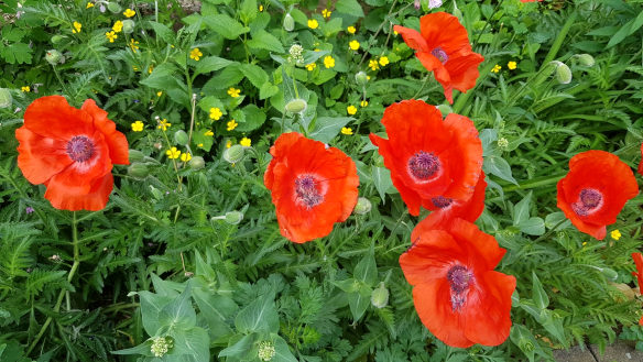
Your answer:
[[[558,182],[558,208],[578,230],[602,240],[625,202],[639,194],[630,166],[604,151],[587,151],[569,160]]]

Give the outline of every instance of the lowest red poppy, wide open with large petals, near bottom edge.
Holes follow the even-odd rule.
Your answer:
[[[511,329],[515,277],[494,272],[505,253],[473,223],[455,219],[444,230],[418,224],[400,256],[413,303],[426,328],[448,345],[498,345]]]

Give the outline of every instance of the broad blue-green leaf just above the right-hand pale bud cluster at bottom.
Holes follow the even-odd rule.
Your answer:
[[[263,295],[259,299],[241,309],[235,319],[235,326],[241,333],[279,331],[279,315],[271,295]]]

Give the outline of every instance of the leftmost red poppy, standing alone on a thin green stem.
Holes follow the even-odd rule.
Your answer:
[[[18,167],[62,210],[101,210],[113,188],[112,164],[129,164],[128,140],[91,99],[76,109],[64,97],[42,97],[15,130]]]

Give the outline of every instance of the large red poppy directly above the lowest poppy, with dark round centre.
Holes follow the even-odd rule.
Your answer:
[[[482,143],[471,120],[450,113],[443,121],[434,106],[403,100],[384,110],[382,123],[389,140],[371,133],[371,142],[411,215],[421,205],[434,208],[433,198],[471,197],[482,171]]]

